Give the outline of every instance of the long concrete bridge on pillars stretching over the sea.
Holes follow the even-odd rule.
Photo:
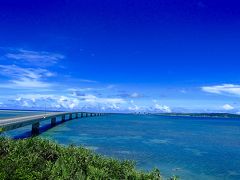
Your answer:
[[[67,120],[78,119],[82,117],[102,116],[103,113],[90,113],[90,112],[51,112],[47,114],[38,114],[31,116],[15,117],[0,120],[0,133],[17,129],[23,126],[32,125],[32,134],[39,134],[40,123],[42,121],[50,120],[51,126],[55,126],[57,118],[61,118],[61,122]]]

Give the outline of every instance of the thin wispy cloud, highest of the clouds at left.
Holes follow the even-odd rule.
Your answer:
[[[21,63],[25,62],[40,67],[54,65],[64,58],[62,54],[24,49],[12,49],[12,52],[7,53],[5,56],[9,59],[19,60]]]

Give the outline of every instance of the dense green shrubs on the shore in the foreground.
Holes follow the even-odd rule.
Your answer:
[[[82,147],[65,147],[36,137],[0,137],[0,179],[158,180],[161,176],[158,169],[140,172],[131,161],[106,158]]]

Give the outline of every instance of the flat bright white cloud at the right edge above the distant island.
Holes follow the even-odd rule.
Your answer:
[[[231,94],[240,96],[240,85],[223,84],[217,86],[204,86],[201,88],[205,92],[214,94]]]

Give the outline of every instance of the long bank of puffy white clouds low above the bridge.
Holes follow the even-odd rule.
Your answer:
[[[11,100],[11,106],[43,109],[121,110],[123,99],[100,98],[94,95],[64,96],[53,94],[21,94]]]

